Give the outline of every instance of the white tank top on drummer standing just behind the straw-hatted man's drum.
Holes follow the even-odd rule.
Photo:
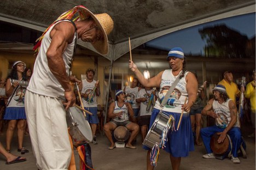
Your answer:
[[[83,80],[83,88],[81,93],[90,94],[88,98],[82,98],[84,107],[97,107],[97,96],[96,93],[92,93],[92,90],[95,87],[96,81],[93,80],[92,82],[88,82],[86,79]]]

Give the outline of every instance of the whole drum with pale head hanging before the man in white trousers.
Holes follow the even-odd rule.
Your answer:
[[[77,107],[69,107],[66,115],[69,134],[72,137],[74,147],[78,147],[92,141],[92,131],[90,124],[85,119],[84,114]]]

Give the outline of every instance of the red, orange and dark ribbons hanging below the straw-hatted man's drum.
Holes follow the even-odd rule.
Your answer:
[[[80,170],[94,170],[91,161],[91,147],[88,143],[77,147],[80,156]]]

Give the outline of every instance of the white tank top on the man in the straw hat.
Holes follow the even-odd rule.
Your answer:
[[[68,21],[68,20],[59,21],[59,22],[56,22],[55,25],[57,25],[57,23],[60,23],[60,22],[71,22],[71,21]],[[60,97],[60,96],[63,98],[64,89],[62,88],[59,81],[57,81],[53,73],[50,71],[48,67],[48,60],[46,57],[46,52],[51,43],[50,32],[55,25],[53,25],[49,29],[49,31],[46,32],[44,35],[39,53],[37,55],[36,62],[34,63],[33,74],[30,79],[30,83],[28,84],[27,90],[36,94],[50,96],[53,98]],[[77,39],[77,34],[74,33],[74,38],[72,43],[68,44],[65,51],[62,53],[67,76],[69,76],[69,69],[73,59],[74,46],[75,46],[76,39]]]

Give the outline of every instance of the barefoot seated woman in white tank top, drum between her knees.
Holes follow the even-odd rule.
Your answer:
[[[129,121],[129,115],[132,122]],[[115,130],[118,126],[125,126],[127,129],[131,131],[131,137],[129,141],[125,145],[126,148],[136,149],[135,146],[131,144],[133,139],[138,134],[139,126],[135,122],[135,118],[133,117],[133,110],[131,104],[125,102],[125,94],[123,90],[117,90],[115,93],[115,102],[112,102],[109,106],[108,117],[112,120],[104,125],[105,134],[110,141],[109,150],[115,148],[115,143],[112,139],[112,131]]]

